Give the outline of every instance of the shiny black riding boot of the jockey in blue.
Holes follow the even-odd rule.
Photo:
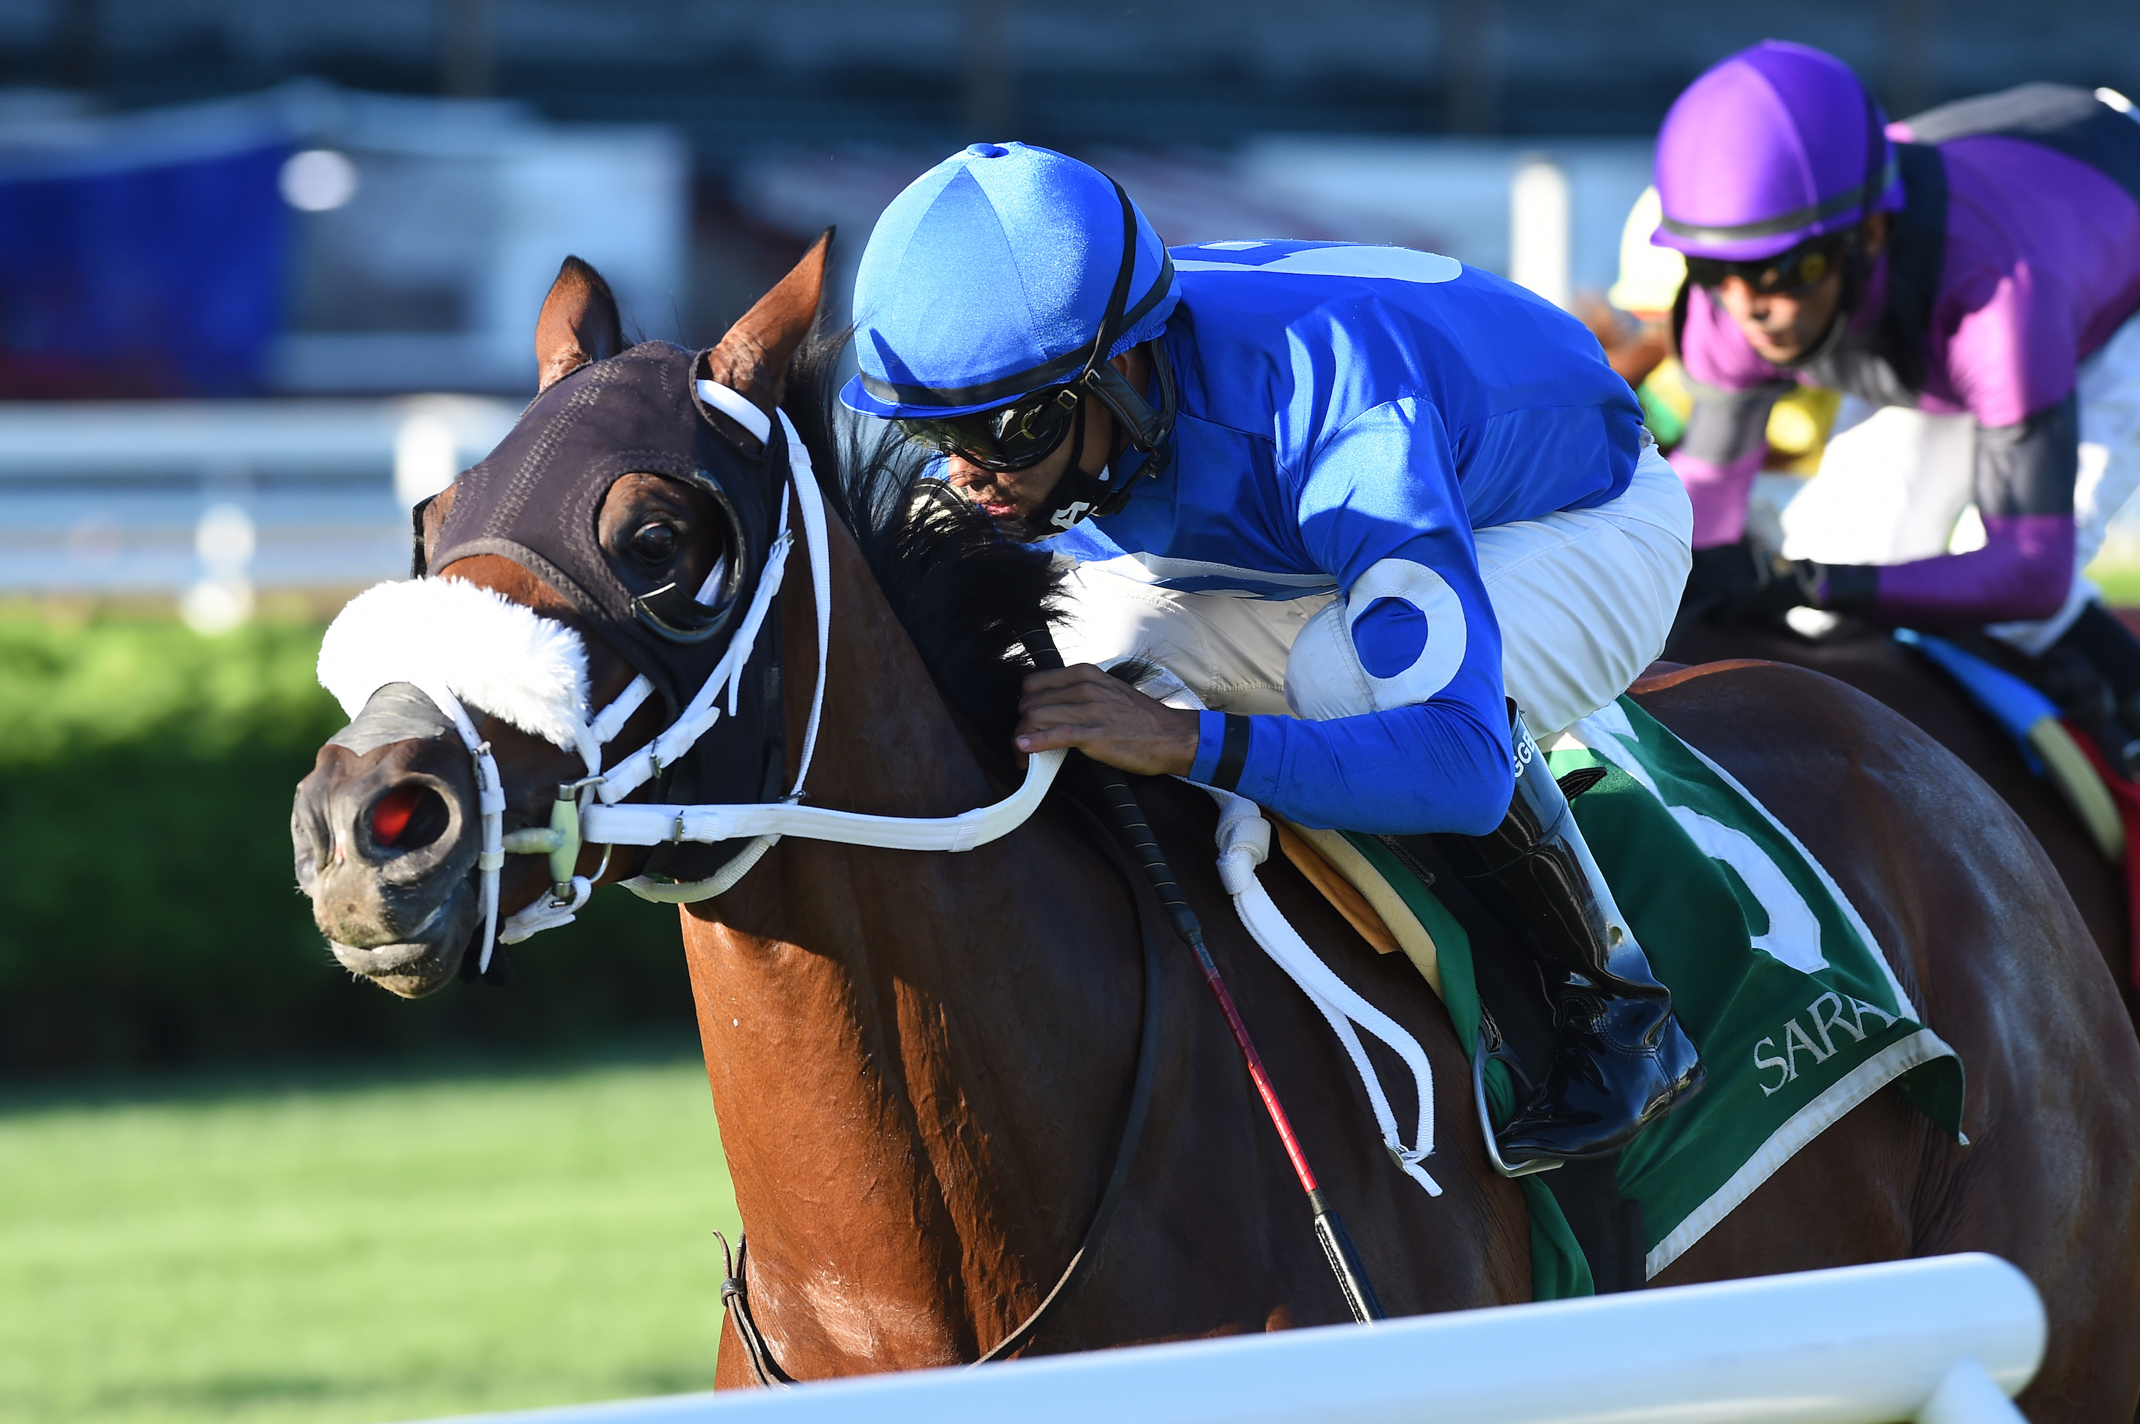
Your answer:
[[[1472,894],[1539,958],[1554,1001],[1545,1084],[1496,1135],[1504,1170],[1611,1157],[1701,1086],[1671,1013],[1584,845],[1569,800],[1511,703],[1515,800],[1492,836],[1436,836]]]

